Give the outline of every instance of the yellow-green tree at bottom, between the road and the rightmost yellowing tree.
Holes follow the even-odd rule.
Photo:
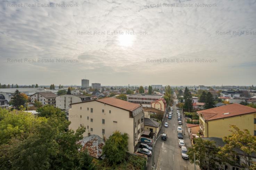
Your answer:
[[[218,154],[219,151],[214,141],[199,137],[195,138],[195,144],[188,148],[187,154],[190,162],[199,165],[200,169],[213,170],[217,169],[218,164],[221,165],[223,161]],[[196,162],[194,162],[194,154]]]

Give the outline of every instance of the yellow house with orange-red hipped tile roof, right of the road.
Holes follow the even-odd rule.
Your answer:
[[[240,104],[230,104],[197,111],[200,132],[204,137],[224,137],[231,134],[230,125],[248,129],[256,135],[256,109]]]

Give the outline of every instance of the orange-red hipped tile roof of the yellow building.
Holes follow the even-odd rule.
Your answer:
[[[256,109],[248,106],[243,106],[237,103],[225,105],[221,107],[215,107],[206,110],[197,111],[202,115],[206,121],[215,120],[221,118],[227,118],[232,116],[239,116],[249,113],[256,113]]]

